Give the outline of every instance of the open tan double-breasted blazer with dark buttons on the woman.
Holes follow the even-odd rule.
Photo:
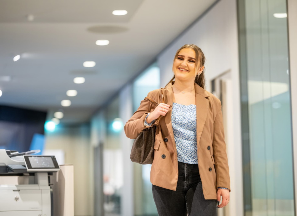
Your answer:
[[[148,96],[158,102],[159,90],[149,92]],[[197,153],[198,166],[205,199],[217,199],[217,187],[230,189],[229,167],[224,141],[224,127],[221,102],[210,92],[195,83],[197,110]],[[178,161],[171,125],[173,103],[172,83],[161,88],[164,103],[171,105],[168,113],[160,120],[154,143],[154,161],[151,168],[151,183],[162,188],[176,190],[178,179]],[[156,105],[148,99],[141,101],[138,110],[124,126],[126,136],[135,139],[149,126],[144,120]],[[154,124],[157,124],[155,122]],[[163,156],[163,157],[162,157]]]

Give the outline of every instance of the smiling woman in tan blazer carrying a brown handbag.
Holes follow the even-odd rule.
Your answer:
[[[142,100],[124,127],[135,139],[159,121],[150,180],[160,216],[214,216],[230,199],[221,102],[204,90],[204,62],[196,45],[181,47],[174,57],[174,77],[148,94],[164,103]]]

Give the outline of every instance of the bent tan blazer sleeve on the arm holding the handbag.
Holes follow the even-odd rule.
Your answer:
[[[148,96],[150,97],[150,93],[148,94]],[[150,112],[150,105],[151,102],[148,99],[144,98],[144,100],[140,102],[140,106],[138,107],[137,111],[134,112],[133,116],[126,122],[124,131],[128,138],[136,139],[139,133],[143,131],[143,129],[152,127],[154,125],[144,125],[145,117]]]

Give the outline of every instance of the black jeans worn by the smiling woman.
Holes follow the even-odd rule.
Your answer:
[[[204,199],[197,164],[179,162],[176,191],[153,185],[159,216],[215,216],[216,199]]]

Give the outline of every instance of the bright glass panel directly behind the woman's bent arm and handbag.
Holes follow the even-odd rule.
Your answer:
[[[154,89],[160,88],[160,69],[153,64],[133,83],[133,111],[140,101]],[[158,216],[150,183],[151,165],[134,163],[134,212],[137,216]]]

